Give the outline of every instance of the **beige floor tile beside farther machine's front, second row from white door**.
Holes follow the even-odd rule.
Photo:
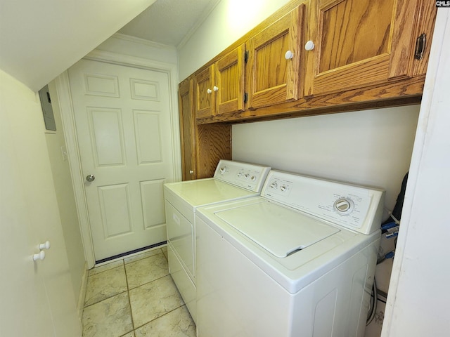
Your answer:
[[[162,253],[143,258],[136,262],[127,263],[125,268],[127,270],[129,289],[134,289],[136,286],[141,286],[142,284],[169,275],[167,260]]]

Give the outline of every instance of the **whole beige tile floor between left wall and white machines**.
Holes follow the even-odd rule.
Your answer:
[[[195,337],[167,266],[167,247],[89,270],[83,337]]]

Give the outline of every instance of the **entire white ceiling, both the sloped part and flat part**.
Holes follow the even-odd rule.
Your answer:
[[[116,32],[179,46],[220,0],[0,0],[0,70],[38,91]]]

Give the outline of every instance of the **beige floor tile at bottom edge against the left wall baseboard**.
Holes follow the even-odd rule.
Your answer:
[[[83,337],[120,337],[133,331],[128,293],[84,308],[82,321]]]

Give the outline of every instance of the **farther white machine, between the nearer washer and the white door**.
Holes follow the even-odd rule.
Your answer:
[[[164,185],[169,272],[194,321],[195,210],[259,195],[269,171],[268,166],[221,160],[213,178]]]

